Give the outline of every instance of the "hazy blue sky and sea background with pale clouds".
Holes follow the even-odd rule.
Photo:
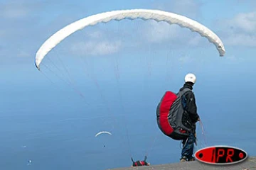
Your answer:
[[[75,32],[36,69],[36,52],[53,33],[87,16],[132,8],[198,21],[222,40],[225,56],[186,28],[124,20]],[[0,21],[4,169],[110,169],[145,154],[151,164],[178,162],[180,144],[161,133],[155,111],[188,72],[197,77],[204,130],[198,124],[195,149],[231,145],[256,155],[255,1],[2,0]],[[112,135],[95,137],[102,130]]]

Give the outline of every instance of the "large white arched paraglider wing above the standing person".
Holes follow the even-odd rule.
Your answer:
[[[38,69],[40,69],[40,64],[43,58],[52,50],[58,43],[67,38],[72,33],[77,30],[82,30],[87,26],[93,26],[97,23],[107,23],[112,20],[120,21],[122,19],[135,19],[142,18],[143,20],[155,20],[164,21],[166,23],[178,24],[178,26],[189,28],[192,31],[199,33],[201,36],[206,37],[209,42],[212,42],[217,48],[220,56],[224,56],[225,48],[223,42],[218,38],[213,31],[206,28],[206,26],[201,25],[197,21],[193,21],[185,16],[178,15],[176,13],[170,13],[166,11],[151,10],[151,9],[131,9],[131,10],[120,10],[120,11],[110,11],[105,13],[98,13],[96,15],[88,16],[82,18],[64,28],[58,30],[53,34],[36,52],[35,64]]]

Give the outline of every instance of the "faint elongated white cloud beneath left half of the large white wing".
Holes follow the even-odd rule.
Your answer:
[[[77,42],[71,47],[72,52],[88,55],[109,55],[117,52],[121,47],[120,41],[95,41]]]

